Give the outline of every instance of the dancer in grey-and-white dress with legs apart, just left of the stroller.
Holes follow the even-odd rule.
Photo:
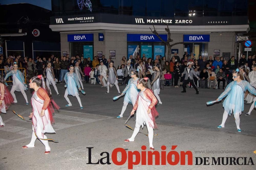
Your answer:
[[[109,68],[106,72],[107,74],[107,78],[108,78],[108,83],[107,83],[107,89],[108,91],[105,92],[105,93],[109,93],[109,86],[116,86],[116,89],[118,91],[118,94],[120,94],[120,90],[119,90],[119,86],[118,86],[118,76],[117,76],[117,73],[116,73],[116,69],[115,67],[113,66],[113,63],[110,62],[109,64]]]

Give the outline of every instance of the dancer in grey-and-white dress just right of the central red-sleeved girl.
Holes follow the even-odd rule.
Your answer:
[[[160,69],[160,65],[156,65],[155,67],[155,76],[154,76],[154,80],[151,82],[151,86],[152,86],[152,90],[154,91],[154,95],[156,96],[157,100],[158,100],[158,104],[162,104],[161,99],[159,97],[160,94],[160,82],[161,82],[161,77],[162,77],[162,71]]]

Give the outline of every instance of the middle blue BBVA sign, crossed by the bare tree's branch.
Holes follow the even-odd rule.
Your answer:
[[[167,41],[167,34],[159,34]],[[127,42],[162,42],[155,34],[127,34]]]

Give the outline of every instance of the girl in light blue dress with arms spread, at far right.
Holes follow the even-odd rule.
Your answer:
[[[249,90],[251,94],[256,95],[256,89],[250,85],[249,82],[243,80],[243,73],[239,71],[239,69],[236,69],[236,71],[233,73],[233,80],[234,81],[228,84],[225,91],[217,99],[222,100],[225,96],[227,96],[222,104],[224,107],[224,113],[222,123],[218,126],[218,128],[225,127],[228,114],[231,115],[233,112],[237,131],[241,132],[239,116],[244,110],[244,92]]]

